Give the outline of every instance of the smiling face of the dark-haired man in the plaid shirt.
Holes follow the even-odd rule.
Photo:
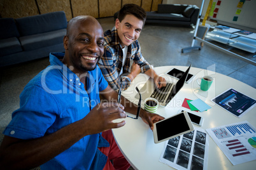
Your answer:
[[[115,27],[117,28],[120,44],[124,48],[124,46],[129,46],[139,38],[143,28],[143,21],[134,15],[126,15],[122,22],[118,19],[116,20]]]

